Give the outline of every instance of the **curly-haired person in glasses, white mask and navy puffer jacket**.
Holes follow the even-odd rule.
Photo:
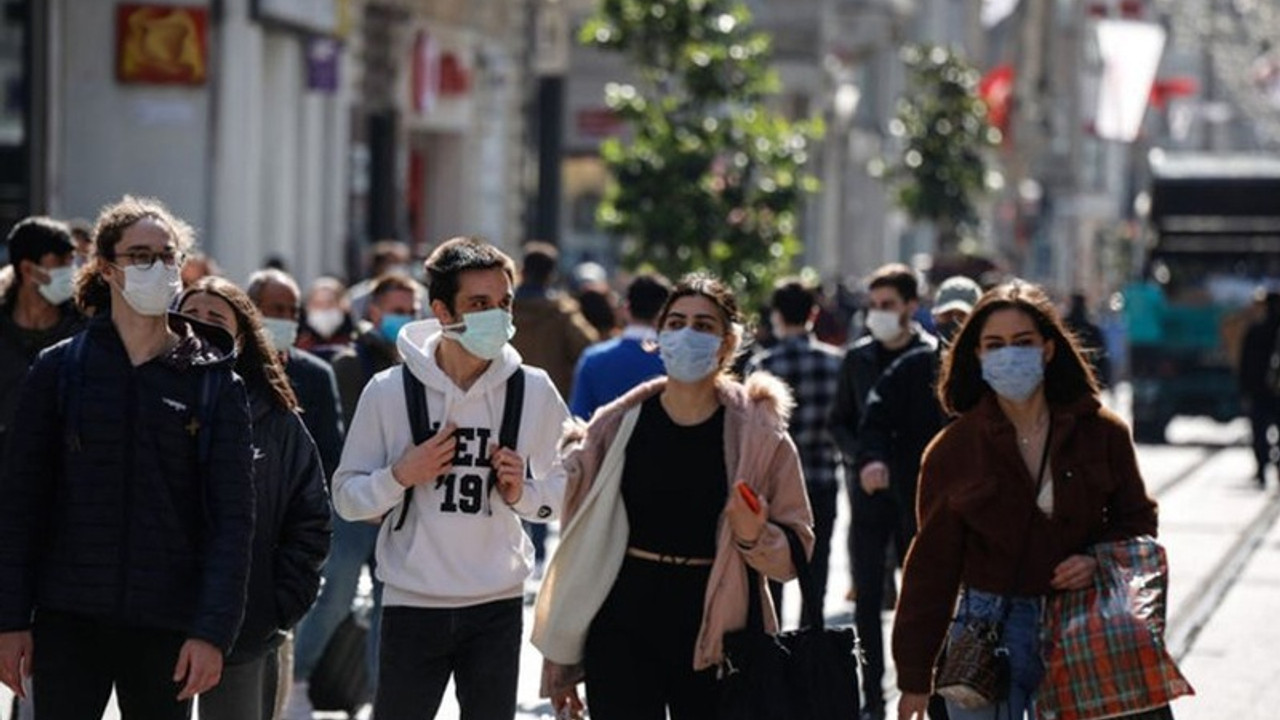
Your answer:
[[[0,475],[0,682],[24,696],[33,670],[41,720],[101,717],[113,688],[125,719],[188,717],[241,626],[248,405],[230,336],[168,313],[191,245],[157,201],[105,208],[76,284],[95,315],[23,383]]]

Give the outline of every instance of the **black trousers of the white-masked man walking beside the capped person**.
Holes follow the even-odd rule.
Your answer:
[[[895,570],[886,561],[892,544],[897,551],[897,565],[902,564],[911,543],[909,523],[902,520],[897,500],[888,492],[867,495],[861,487],[854,491],[854,582],[858,600],[854,603],[854,624],[867,655],[863,666],[863,707],[879,710],[884,706],[884,633],[881,628],[881,610],[884,602],[884,582]]]

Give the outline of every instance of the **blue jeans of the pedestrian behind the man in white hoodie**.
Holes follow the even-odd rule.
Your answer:
[[[360,584],[360,570],[369,565],[374,571],[374,548],[378,546],[378,525],[348,523],[333,516],[333,541],[325,562],[320,596],[306,616],[298,623],[294,643],[293,679],[306,682],[324,656],[329,638],[351,612],[352,601]],[[383,583],[374,579],[374,607],[369,614],[369,644],[365,660],[370,682],[378,678],[378,633],[383,615]]]

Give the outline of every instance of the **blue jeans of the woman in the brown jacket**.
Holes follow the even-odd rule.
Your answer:
[[[1002,596],[983,591],[970,589],[965,593],[956,620],[951,624],[952,639],[970,618],[1000,620],[1007,602]],[[1032,700],[1044,678],[1044,664],[1039,655],[1041,611],[1044,603],[1039,597],[1015,597],[1012,603],[1002,635],[1005,647],[1009,648],[1009,700],[995,707],[974,710],[965,710],[947,701],[951,720],[1036,720]]]

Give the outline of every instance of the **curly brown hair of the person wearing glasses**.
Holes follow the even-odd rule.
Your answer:
[[[102,208],[93,227],[91,261],[76,274],[76,305],[82,311],[111,309],[111,287],[102,277],[105,264],[115,260],[115,246],[124,238],[124,231],[148,218],[164,225],[178,252],[188,252],[195,246],[196,232],[159,200],[125,195],[119,202]]]

